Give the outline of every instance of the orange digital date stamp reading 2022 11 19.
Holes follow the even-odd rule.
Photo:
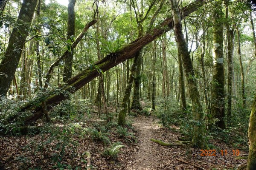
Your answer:
[[[239,156],[239,150],[200,150],[200,156]]]

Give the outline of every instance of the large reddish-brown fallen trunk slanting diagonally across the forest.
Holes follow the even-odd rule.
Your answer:
[[[184,7],[184,16],[191,14],[196,11],[199,7],[201,7],[206,0],[196,0],[195,2],[189,4]],[[95,62],[90,67],[86,68],[81,73],[76,76],[70,78],[65,82],[65,86],[61,87],[62,90],[69,91],[71,94],[75,93],[85,84],[90,82],[92,79],[99,76],[101,71],[105,72],[110,68],[118,65],[121,62],[124,62],[127,59],[131,59],[134,57],[135,53],[143,48],[148,43],[155,40],[157,37],[160,37],[162,34],[170,31],[173,28],[172,17],[168,17],[159,25],[153,28],[148,34],[145,34],[142,37],[137,38],[135,41],[125,45],[120,50],[108,54],[105,58]],[[54,93],[53,91],[49,91],[49,94],[44,94],[44,98],[36,98],[32,102],[27,103],[23,107],[20,108],[20,111],[33,111],[33,115],[26,119],[25,124],[30,124],[35,122],[43,115],[41,102],[45,100],[47,109],[51,110],[55,105],[58,105],[64,99],[67,99],[67,95],[63,92]],[[52,95],[51,95],[52,94]]]

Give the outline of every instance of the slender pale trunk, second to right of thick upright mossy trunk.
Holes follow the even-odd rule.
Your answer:
[[[244,68],[243,68],[243,63],[242,63],[242,56],[241,56],[241,45],[240,45],[240,31],[238,28],[236,28],[237,32],[237,53],[239,56],[239,63],[240,63],[240,71],[241,71],[241,90],[242,90],[242,99],[243,99],[243,108],[245,109],[246,106],[246,97],[245,97],[245,88],[244,88]]]

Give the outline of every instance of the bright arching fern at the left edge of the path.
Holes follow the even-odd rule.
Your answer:
[[[120,148],[125,147],[121,142],[112,143],[110,147],[107,147],[103,155],[107,159],[116,159],[118,157],[118,153],[120,153]]]

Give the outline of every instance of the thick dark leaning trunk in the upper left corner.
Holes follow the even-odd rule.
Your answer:
[[[36,4],[37,0],[23,0],[17,19],[17,27],[12,30],[6,53],[0,63],[0,97],[6,96],[14,78]]]

